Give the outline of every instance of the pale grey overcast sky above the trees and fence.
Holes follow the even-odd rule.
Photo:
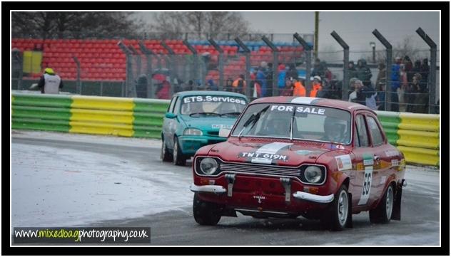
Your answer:
[[[243,11],[243,17],[250,22],[254,31],[267,33],[313,33],[315,14],[313,11]],[[151,13],[143,14],[148,21]],[[321,11],[319,26],[320,51],[340,46],[330,36],[337,33],[350,46],[350,51],[371,51],[370,41],[376,43],[376,50],[383,50],[381,43],[371,33],[377,28],[393,46],[406,36],[412,36],[412,43],[418,48],[428,46],[415,30],[421,27],[439,45],[440,13],[438,11]],[[440,49],[440,45],[438,47]]]

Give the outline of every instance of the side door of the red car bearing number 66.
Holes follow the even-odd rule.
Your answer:
[[[353,181],[353,206],[356,211],[368,209],[373,201],[371,184],[373,184],[373,147],[370,142],[365,112],[355,115],[355,133],[353,155],[355,179]]]

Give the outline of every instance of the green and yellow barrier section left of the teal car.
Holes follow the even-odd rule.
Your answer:
[[[11,129],[160,138],[168,100],[12,93]]]

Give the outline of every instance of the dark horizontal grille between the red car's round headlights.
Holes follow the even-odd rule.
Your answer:
[[[300,169],[273,165],[223,162],[219,164],[219,169],[221,169],[221,171],[224,172],[270,174],[275,176],[291,176],[291,177],[300,176]]]

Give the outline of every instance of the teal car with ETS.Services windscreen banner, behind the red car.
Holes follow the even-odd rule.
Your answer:
[[[204,145],[226,141],[219,130],[230,130],[247,104],[248,98],[238,93],[176,93],[163,119],[161,159],[183,166]]]

